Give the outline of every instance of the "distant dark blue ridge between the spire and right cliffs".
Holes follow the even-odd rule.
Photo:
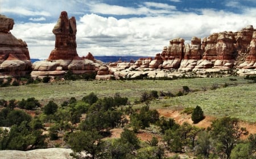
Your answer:
[[[95,59],[98,59],[104,63],[108,62],[117,62],[119,60],[123,62],[130,62],[131,59],[137,61],[139,58],[148,58],[148,57],[137,57],[137,56],[94,56]],[[154,57],[152,57],[154,59]]]

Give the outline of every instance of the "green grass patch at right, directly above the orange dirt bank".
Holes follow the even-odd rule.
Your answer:
[[[189,93],[186,96],[152,101],[152,108],[168,105],[170,109],[195,108],[199,105],[206,115],[236,117],[242,121],[256,122],[256,84]]]

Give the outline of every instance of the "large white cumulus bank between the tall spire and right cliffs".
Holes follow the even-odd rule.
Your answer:
[[[204,38],[214,32],[236,32],[256,22],[253,16],[202,10],[203,14],[115,19],[96,14],[82,16],[77,28],[80,53],[94,55],[154,56],[176,37],[190,43],[193,36]],[[80,39],[80,40],[79,40]]]

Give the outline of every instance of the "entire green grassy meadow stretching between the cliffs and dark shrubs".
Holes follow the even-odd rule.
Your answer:
[[[230,80],[233,79],[233,80]],[[150,102],[151,108],[181,109],[199,105],[206,115],[229,115],[242,121],[256,122],[256,83],[243,77],[195,78],[177,80],[93,80],[56,81],[0,88],[0,98],[22,100],[35,97],[43,105],[53,100],[57,104],[75,97],[80,100],[90,92],[98,97],[119,93],[129,98],[131,104],[145,91],[170,91],[176,94],[188,86],[192,92],[185,96],[161,98]],[[211,88],[217,86],[217,89]],[[224,87],[227,86],[228,87]]]

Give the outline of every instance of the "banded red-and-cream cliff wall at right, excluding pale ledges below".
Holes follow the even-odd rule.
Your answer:
[[[221,32],[203,38],[192,37],[191,44],[174,38],[149,68],[197,69],[256,68],[256,30],[249,25],[238,32]],[[242,58],[245,57],[245,58]]]

